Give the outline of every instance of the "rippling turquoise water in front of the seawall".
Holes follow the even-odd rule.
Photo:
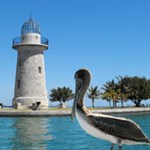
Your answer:
[[[150,114],[124,117],[136,121],[150,138]],[[86,134],[70,117],[0,118],[0,150],[110,150],[110,146]],[[123,147],[135,149],[150,150],[150,146]]]

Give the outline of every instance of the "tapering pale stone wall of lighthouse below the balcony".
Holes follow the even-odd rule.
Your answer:
[[[32,106],[37,101],[48,106],[43,50],[18,50],[13,103]]]

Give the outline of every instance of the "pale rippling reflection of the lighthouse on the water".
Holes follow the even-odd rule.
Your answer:
[[[17,118],[14,127],[13,150],[45,150],[52,139],[47,118]]]

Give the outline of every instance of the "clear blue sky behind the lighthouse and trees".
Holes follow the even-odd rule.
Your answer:
[[[21,35],[30,14],[49,39],[44,53],[48,93],[63,86],[74,91],[74,73],[80,68],[91,71],[91,86],[99,88],[118,75],[150,78],[149,0],[1,0],[3,104],[11,105],[14,97],[17,51],[12,40]]]

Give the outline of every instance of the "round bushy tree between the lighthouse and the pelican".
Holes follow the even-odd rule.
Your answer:
[[[49,100],[59,101],[60,107],[64,106],[65,102],[68,100],[72,100],[74,98],[74,94],[69,87],[58,87],[57,89],[51,89],[51,93],[49,95]]]

